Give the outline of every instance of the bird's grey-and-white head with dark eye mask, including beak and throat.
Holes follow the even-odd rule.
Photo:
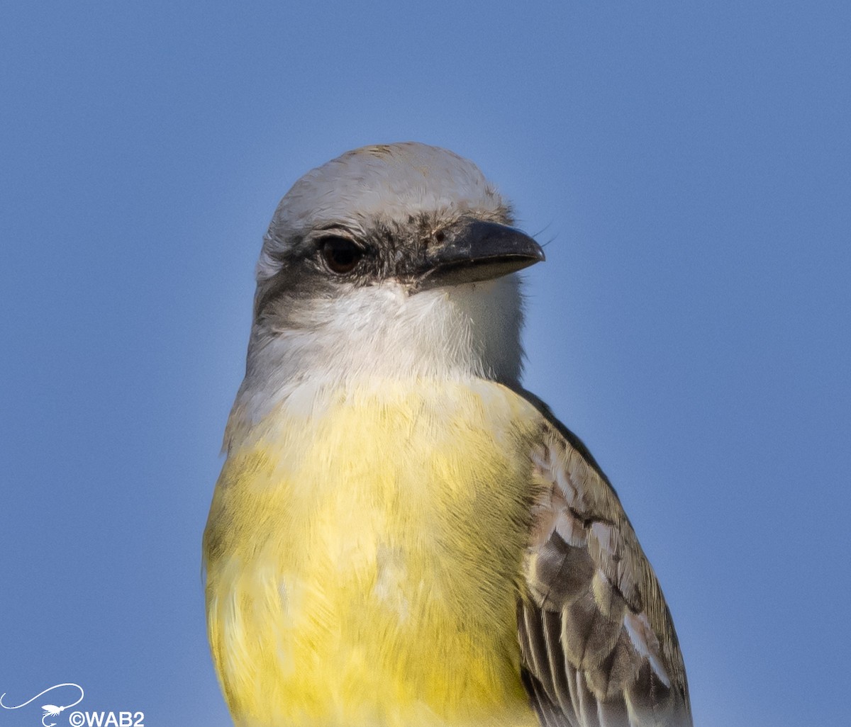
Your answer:
[[[511,223],[476,165],[434,146],[368,146],[306,173],[264,238],[246,383],[516,382],[522,314],[511,274],[544,253]]]

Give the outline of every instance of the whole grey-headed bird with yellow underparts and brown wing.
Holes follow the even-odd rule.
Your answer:
[[[436,146],[349,151],[283,196],[203,535],[238,727],[692,724],[618,496],[521,383],[519,271],[544,258]]]

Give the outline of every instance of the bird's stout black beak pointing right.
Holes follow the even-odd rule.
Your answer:
[[[446,241],[426,253],[416,279],[420,290],[494,280],[544,259],[537,242],[505,224],[472,220],[444,234]]]

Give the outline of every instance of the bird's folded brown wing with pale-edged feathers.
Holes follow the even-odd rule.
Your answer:
[[[671,613],[617,495],[549,418],[517,608],[523,682],[546,727],[690,727]]]

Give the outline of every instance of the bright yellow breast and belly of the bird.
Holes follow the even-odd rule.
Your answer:
[[[237,724],[537,724],[515,611],[533,422],[494,383],[388,383],[244,438],[204,534]]]

